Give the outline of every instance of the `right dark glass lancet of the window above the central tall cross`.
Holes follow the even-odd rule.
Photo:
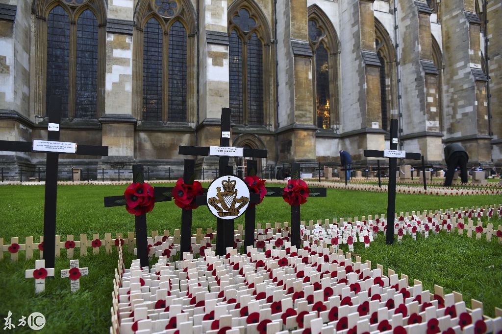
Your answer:
[[[253,34],[247,42],[247,106],[249,124],[263,124],[262,41]]]

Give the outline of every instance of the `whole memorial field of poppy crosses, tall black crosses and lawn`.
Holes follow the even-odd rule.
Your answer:
[[[20,237],[14,233],[36,228],[37,223],[30,224],[31,217],[24,222],[28,228],[20,229],[18,223],[23,214],[19,213],[30,206],[26,202],[26,197],[33,195],[30,187],[39,187],[40,191],[41,185],[6,185],[1,189],[7,196],[2,197],[1,203],[6,208],[6,226],[5,236],[0,237],[0,268],[6,272],[12,270],[9,275],[0,276],[3,299],[7,301],[1,310],[6,314],[4,330],[16,329],[16,326],[22,331],[28,327],[38,330],[48,322],[45,332],[78,328],[83,332],[109,330],[112,334],[502,332],[502,309],[496,307],[501,301],[498,291],[502,281],[502,204],[497,201],[500,189],[426,189],[425,174],[423,192],[412,186],[398,186],[398,159],[422,160],[423,164],[424,157],[397,149],[397,120],[391,121],[390,150],[364,150],[365,157],[388,159],[387,187],[382,187],[380,177],[378,186],[356,184],[351,185],[350,190],[346,188],[348,182],[345,189],[340,184],[320,180],[309,180],[307,184],[298,163],[291,165],[289,180],[265,184],[267,181],[257,175],[255,159],[266,158],[267,150],[231,147],[230,109],[222,108],[220,146],[179,147],[181,155],[218,157],[218,177],[206,188],[195,178],[194,159],[185,159],[183,177],[174,186],[150,185],[145,182],[144,167],[133,165],[133,180],[125,191],[122,186],[120,192],[111,194],[113,185],[98,187],[103,190],[98,192],[103,207],[83,192],[79,197],[65,198],[66,201],[58,196],[60,153],[106,156],[108,148],[59,141],[60,115],[56,112],[56,102],[51,101],[49,108],[49,141],[35,140],[33,145],[0,142],[0,150],[47,153],[43,236],[38,242],[33,235]],[[245,178],[233,175],[230,157],[249,158]],[[423,170],[425,172],[425,167]],[[479,177],[481,175],[476,174],[474,181],[479,181]],[[485,182],[474,184],[486,185]],[[63,197],[70,188],[60,189],[65,191]],[[89,188],[86,190],[89,193]],[[343,206],[357,205],[361,195],[376,197],[372,192],[382,191],[387,195],[387,210],[379,196],[380,213],[367,211],[369,202],[358,203],[365,210],[358,212],[364,216],[343,217],[337,212]],[[347,198],[340,201],[334,196],[330,198],[342,192]],[[25,196],[24,203],[10,203],[14,203],[20,193]],[[415,211],[398,214],[403,196],[416,201]],[[453,201],[441,209],[423,209],[427,201],[428,205],[433,201],[437,208],[440,198]],[[78,219],[73,212],[62,214],[68,207],[58,208],[58,200],[61,206],[68,204],[68,199],[73,206],[83,206],[87,201],[93,204],[84,217],[77,220],[78,233],[75,229],[62,238],[58,230],[68,231],[68,226],[61,228],[62,217],[68,219],[64,225]],[[467,199],[477,203],[458,205]],[[37,202],[35,205],[40,204],[40,198]],[[166,210],[167,205],[172,204],[169,202],[175,206],[170,205]],[[323,203],[330,209],[322,207]],[[289,209],[284,209],[286,204]],[[267,205],[268,215],[262,217],[260,211]],[[312,216],[308,210],[301,210],[302,205],[304,208],[317,205],[315,212],[323,216],[306,219]],[[205,231],[200,218],[194,219],[194,214],[203,211],[198,209],[200,206],[207,206],[213,215],[204,217],[210,225]],[[176,215],[169,221],[164,216],[159,224],[154,217],[152,224],[151,218],[147,221],[147,214],[151,217],[156,207],[171,215],[181,209],[181,219]],[[119,226],[122,223],[118,229],[113,230],[108,222],[96,228],[96,216],[120,208],[126,210],[114,212],[115,218],[120,217]],[[422,209],[419,211],[419,208]],[[37,211],[40,209],[29,214],[36,215]],[[123,222],[130,221],[131,215],[134,231],[117,232],[129,225]],[[239,223],[242,220],[235,221],[239,217],[244,218],[243,224]],[[271,219],[284,222],[272,223]],[[167,229],[161,233],[148,231],[152,225],[165,226],[166,221],[174,227],[172,235]],[[87,226],[82,227],[85,224]],[[90,239],[87,238],[89,232]],[[79,240],[75,235],[80,235]],[[434,241],[429,241],[431,239]],[[400,247],[403,244],[406,245]],[[420,244],[425,246],[426,253],[432,254],[432,259],[424,261],[420,259],[424,251],[413,251]],[[463,246],[467,245],[472,245],[473,250],[466,252],[468,248]],[[128,252],[124,251],[126,246]],[[477,259],[483,265],[479,268],[481,271],[472,264],[462,268],[464,259],[449,252],[455,247],[467,257],[479,256],[483,248],[484,253],[488,251],[484,262]],[[368,250],[372,248],[380,249],[371,253]],[[62,251],[69,261],[64,267]],[[393,258],[398,252],[408,253],[407,263]],[[451,257],[450,263],[441,261],[445,255]],[[106,264],[90,265],[93,256],[106,258]],[[8,257],[9,264],[6,263]],[[381,262],[385,257],[390,261]],[[490,264],[484,267],[486,260]],[[113,262],[116,263],[113,270],[104,268]],[[417,267],[426,268],[428,264],[434,268],[416,271]],[[406,268],[411,272],[406,272]],[[94,271],[101,279],[95,278]],[[468,282],[467,291],[463,291],[465,285],[455,280],[471,280],[471,272],[475,272],[475,277]],[[86,277],[92,279],[87,281]],[[446,284],[432,282],[432,288],[430,280],[436,277]],[[490,283],[486,284],[483,278]],[[31,288],[28,288],[29,282],[32,282]],[[107,289],[108,297],[107,293],[99,293]],[[485,289],[491,291],[485,293]],[[20,307],[23,302],[34,309],[28,311]],[[85,307],[89,302],[94,306],[91,309]],[[494,307],[493,311],[485,309],[483,302]],[[102,312],[106,305],[109,313]],[[14,314],[11,307],[14,312],[23,313]],[[27,316],[25,310],[29,312]],[[106,318],[109,321],[103,322]]]

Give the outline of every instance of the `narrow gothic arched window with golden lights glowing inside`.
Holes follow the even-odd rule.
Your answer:
[[[319,129],[331,129],[339,124],[338,39],[329,19],[315,5],[309,8],[308,35],[313,53],[312,83],[315,124]]]

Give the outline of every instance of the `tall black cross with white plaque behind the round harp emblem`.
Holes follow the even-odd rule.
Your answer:
[[[245,157],[245,158],[267,158],[267,150],[255,150],[245,148],[230,147],[230,108],[221,108],[221,133],[220,146],[201,147],[201,146],[180,146],[178,154],[181,155],[196,155],[196,156],[218,156],[219,157],[219,177],[233,174],[233,168],[229,170],[228,160],[230,157]],[[216,218],[216,253],[218,255],[225,254],[225,243],[230,241],[232,235],[233,244],[233,219]],[[226,240],[226,242],[225,242]]]

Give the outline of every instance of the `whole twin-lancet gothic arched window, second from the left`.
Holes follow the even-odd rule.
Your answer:
[[[138,5],[133,36],[141,64],[141,79],[133,80],[137,119],[183,123],[195,119],[196,78],[189,69],[195,68],[196,28],[191,9],[186,0],[142,0]]]

